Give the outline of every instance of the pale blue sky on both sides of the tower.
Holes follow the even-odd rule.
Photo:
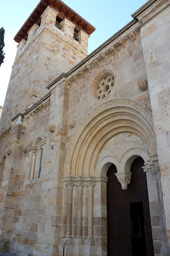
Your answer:
[[[63,2],[95,26],[96,31],[89,38],[90,53],[130,22],[131,14],[146,3],[146,0],[63,0]],[[1,3],[0,28],[3,26],[5,29],[5,59],[0,67],[0,106],[4,103],[17,51],[17,43],[14,42],[13,37],[38,3],[39,0],[8,0]]]

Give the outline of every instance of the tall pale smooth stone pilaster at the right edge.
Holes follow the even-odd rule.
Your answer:
[[[151,110],[157,138],[158,162],[170,241],[170,112],[169,112],[169,1],[156,1],[155,8],[137,15],[141,22],[143,47]],[[167,32],[168,31],[168,32]]]

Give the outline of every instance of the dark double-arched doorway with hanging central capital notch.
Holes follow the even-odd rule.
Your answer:
[[[107,172],[107,255],[153,256],[150,209],[144,161],[137,157],[132,163],[131,182],[127,190],[114,173],[112,164]]]

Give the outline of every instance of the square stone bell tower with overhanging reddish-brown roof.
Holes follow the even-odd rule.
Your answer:
[[[88,54],[95,28],[61,1],[42,0],[20,28],[19,43],[1,116],[1,133],[12,118],[42,99],[50,82]]]

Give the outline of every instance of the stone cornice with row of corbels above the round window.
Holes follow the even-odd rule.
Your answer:
[[[88,72],[91,73],[92,70],[100,67],[101,60],[108,61],[109,58],[111,58],[120,51],[120,48],[124,49],[125,47],[127,47],[128,39],[134,42],[136,38],[137,28],[135,28],[134,31],[128,32],[125,36],[119,36],[119,38],[116,38],[114,42],[104,47],[104,49],[101,49],[100,52],[98,52],[95,56],[90,58],[86,63],[84,63],[84,65],[82,65],[81,67],[77,68],[77,70],[72,72],[68,76],[68,79],[66,79],[66,85],[69,88],[71,88],[73,86],[73,83],[78,83],[80,79],[83,79]]]

